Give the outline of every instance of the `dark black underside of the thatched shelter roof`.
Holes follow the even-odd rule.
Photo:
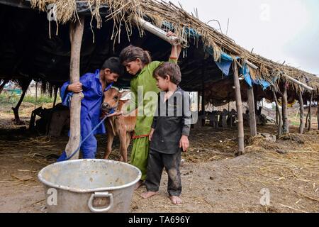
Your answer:
[[[145,31],[140,37],[138,28],[133,27],[128,39],[125,27],[121,28],[119,40],[112,39],[113,21],[103,19],[101,29],[96,28],[96,20],[86,16],[80,74],[94,72],[103,61],[118,56],[121,50],[132,44],[149,50],[153,60],[168,60],[170,44]],[[70,41],[69,24],[58,25],[48,21],[47,14],[33,9],[0,6],[0,78],[23,79],[32,77],[41,82],[61,86],[69,79]],[[57,32],[58,31],[58,32]],[[56,35],[57,33],[57,35]],[[50,38],[51,36],[51,38]],[[120,42],[118,42],[120,41]],[[180,86],[189,92],[204,94],[205,100],[220,106],[235,100],[233,70],[225,76],[219,70],[212,56],[204,52],[201,40],[189,40],[190,47],[179,57],[182,82]],[[118,87],[130,87],[130,74],[118,80]],[[240,81],[242,101],[247,100],[247,84]],[[255,99],[263,97],[272,100],[270,90],[254,87]],[[289,91],[289,102],[296,98],[296,92]]]

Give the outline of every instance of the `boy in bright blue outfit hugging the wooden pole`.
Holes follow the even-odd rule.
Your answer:
[[[80,77],[80,82],[70,84],[69,81],[61,87],[62,104],[69,106],[69,98],[73,93],[82,92],[84,99],[81,102],[81,137],[86,138],[87,135],[101,121],[101,104],[103,101],[103,92],[111,88],[113,82],[123,74],[123,66],[118,57],[111,57],[103,63],[101,70],[94,73],[86,73]],[[118,115],[118,113],[114,114]],[[104,124],[102,123],[89,138],[83,141],[81,150],[84,159],[95,158],[97,141],[94,135],[106,133]],[[67,159],[65,152],[57,159],[61,162]]]

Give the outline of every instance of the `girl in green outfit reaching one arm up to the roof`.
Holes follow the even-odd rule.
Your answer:
[[[167,33],[167,35],[176,36],[172,32]],[[180,52],[180,45],[172,45],[169,61],[177,63]],[[130,164],[138,167],[142,172],[141,180],[135,187],[135,189],[138,189],[146,178],[147,157],[150,145],[149,135],[153,121],[153,116],[145,114],[145,107],[156,106],[157,104],[156,100],[145,100],[144,97],[147,92],[159,93],[159,89],[156,86],[156,80],[152,75],[154,70],[162,62],[152,61],[149,52],[133,45],[130,45],[121,51],[120,59],[128,73],[133,75],[133,79],[130,82],[130,90],[133,95],[130,103],[123,109],[124,114],[128,114],[138,108],[138,116],[133,135],[133,149],[130,156]],[[138,98],[138,95],[142,95],[142,97]],[[140,101],[140,103],[138,103],[138,101]]]

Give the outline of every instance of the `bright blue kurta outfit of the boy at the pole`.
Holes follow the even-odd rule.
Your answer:
[[[81,136],[82,140],[86,138],[92,129],[95,128],[101,121],[101,104],[103,101],[103,91],[102,84],[100,82],[100,70],[96,70],[95,73],[86,73],[80,77],[80,82],[82,83],[82,89],[84,94],[84,99],[81,102]],[[70,98],[73,92],[67,91],[67,86],[70,82],[65,82],[61,87],[61,99],[62,104],[69,106]],[[110,84],[104,91],[110,89],[112,84]],[[81,145],[81,150],[83,153],[83,158],[95,158],[97,142],[94,135],[106,133],[104,124],[102,123],[94,133],[83,141]],[[57,161],[63,161],[66,159],[65,152]]]

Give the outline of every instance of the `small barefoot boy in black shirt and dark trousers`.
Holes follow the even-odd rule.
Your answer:
[[[157,87],[162,91],[158,97],[157,113],[150,132],[150,153],[147,161],[147,192],[141,194],[148,199],[157,194],[163,167],[169,177],[167,192],[173,204],[181,204],[181,175],[179,163],[181,150],[189,148],[191,123],[189,94],[178,84],[181,82],[179,66],[164,62],[154,71]]]

